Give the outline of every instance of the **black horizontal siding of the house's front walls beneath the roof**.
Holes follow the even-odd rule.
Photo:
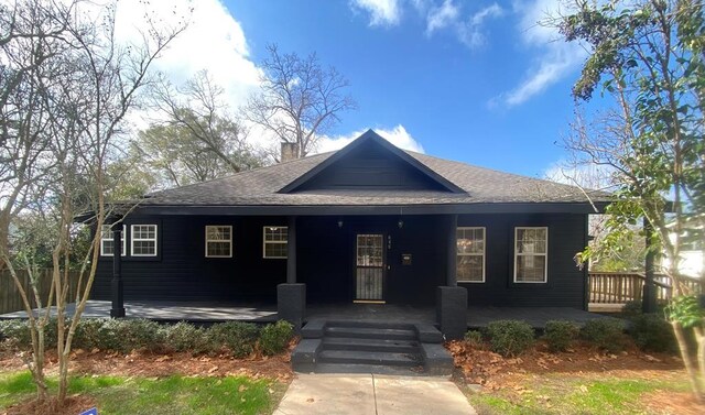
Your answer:
[[[399,228],[399,219],[403,227]],[[338,227],[338,221],[343,227]],[[584,215],[463,215],[458,226],[487,230],[486,282],[459,283],[470,305],[565,306],[583,308],[584,274],[573,261],[583,249]],[[286,280],[286,260],[262,259],[262,227],[286,225],[273,217],[133,217],[131,223],[158,223],[160,256],[126,258],[126,299],[274,302],[276,285]],[[300,217],[297,274],[311,303],[349,303],[354,296],[355,236],[391,237],[386,252],[386,299],[391,304],[435,304],[435,287],[445,283],[445,216]],[[230,225],[234,258],[204,255],[206,225]],[[513,229],[549,227],[549,282],[514,284]],[[129,247],[129,243],[128,243]],[[401,255],[412,264],[402,265]],[[112,259],[101,259],[94,298],[110,298]]]

